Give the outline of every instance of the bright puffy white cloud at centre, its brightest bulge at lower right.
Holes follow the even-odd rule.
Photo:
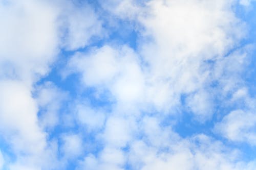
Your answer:
[[[105,45],[89,54],[75,54],[69,61],[65,74],[77,71],[86,86],[109,90],[118,102],[142,100],[144,78],[138,65],[138,57],[127,46],[114,48]]]

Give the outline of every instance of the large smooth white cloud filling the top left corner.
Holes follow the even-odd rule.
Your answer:
[[[0,77],[31,83],[57,51],[57,10],[42,1],[0,3]]]

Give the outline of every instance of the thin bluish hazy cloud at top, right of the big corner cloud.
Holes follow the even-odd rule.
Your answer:
[[[93,37],[105,36],[102,21],[89,4],[78,6],[60,1],[57,5],[61,8],[62,45],[67,50],[83,48],[92,42]]]

